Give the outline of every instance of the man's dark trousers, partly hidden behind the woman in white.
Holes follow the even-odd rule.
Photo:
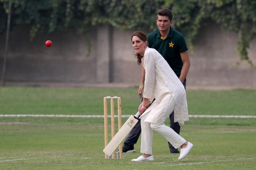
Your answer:
[[[186,79],[183,82],[183,85],[186,89]],[[137,110],[138,112],[138,110]],[[136,113],[137,113],[136,112]],[[180,125],[178,122],[174,123],[174,111],[171,113],[170,117],[170,127],[178,134],[180,134]],[[129,133],[129,136],[125,139],[124,144],[129,144],[129,145],[134,145],[137,143],[139,137],[140,137],[140,133],[141,133],[141,126],[140,126],[140,119],[138,121],[138,123],[133,127],[133,129],[131,130],[131,132]],[[170,142],[168,142],[169,147],[172,147],[172,144],[170,144]]]

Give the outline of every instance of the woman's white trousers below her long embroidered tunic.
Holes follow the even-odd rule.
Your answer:
[[[167,112],[165,114],[164,120],[169,117],[170,113],[174,110],[174,99],[171,97],[169,105],[167,107]],[[150,112],[149,112],[150,113]],[[145,114],[141,117],[141,147],[140,152],[152,155],[152,142],[153,142],[153,130],[161,134],[168,140],[174,148],[180,147],[186,142],[186,140],[177,134],[172,128],[166,126],[164,123],[161,125],[144,122],[148,114]]]

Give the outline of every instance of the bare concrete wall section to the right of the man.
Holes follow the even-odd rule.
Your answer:
[[[256,88],[256,39],[248,50],[254,68],[247,61],[240,61],[237,41],[236,33],[227,32],[214,23],[202,28],[194,52],[190,51],[188,86]]]

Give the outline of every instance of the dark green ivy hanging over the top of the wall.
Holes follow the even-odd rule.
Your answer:
[[[9,0],[0,0],[0,33],[6,30]],[[256,35],[256,1],[251,0],[12,0],[11,27],[31,25],[31,40],[38,32],[74,29],[87,33],[92,26],[110,24],[127,30],[153,31],[156,11],[169,8],[175,29],[190,48],[198,30],[211,19],[238,34],[240,59],[252,65],[247,49]]]

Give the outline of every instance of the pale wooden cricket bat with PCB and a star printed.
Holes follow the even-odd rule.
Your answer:
[[[124,123],[121,129],[116,133],[113,139],[108,143],[108,145],[103,149],[103,152],[108,156],[111,156],[113,152],[115,152],[116,148],[122,143],[124,138],[128,135],[128,133],[132,130],[132,128],[137,124],[138,117],[140,112],[138,111],[136,115],[131,115],[129,119]]]

